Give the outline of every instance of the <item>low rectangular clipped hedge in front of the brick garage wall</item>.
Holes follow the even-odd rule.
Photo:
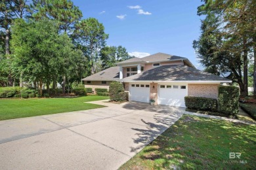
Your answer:
[[[188,109],[217,111],[217,99],[186,96],[185,105]]]

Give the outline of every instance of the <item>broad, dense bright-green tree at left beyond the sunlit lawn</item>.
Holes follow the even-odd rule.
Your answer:
[[[12,25],[11,48],[19,71],[28,81],[49,84],[53,77],[67,74],[68,65],[77,57],[74,45],[65,33],[58,35],[58,24],[50,20],[39,22],[16,20]]]

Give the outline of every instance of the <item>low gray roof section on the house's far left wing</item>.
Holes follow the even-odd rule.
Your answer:
[[[119,80],[119,66],[110,67],[108,69],[95,73],[94,75],[87,76],[82,80]]]

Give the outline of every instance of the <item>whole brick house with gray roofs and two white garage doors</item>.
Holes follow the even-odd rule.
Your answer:
[[[117,63],[117,67],[82,80],[85,80],[85,87],[102,86],[104,80],[104,88],[108,88],[111,81],[123,82],[130,101],[149,103],[154,99],[156,105],[176,107],[185,107],[186,95],[217,99],[219,84],[232,82],[196,69],[187,58],[163,53],[127,59]]]

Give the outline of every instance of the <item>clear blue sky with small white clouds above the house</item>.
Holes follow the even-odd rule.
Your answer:
[[[200,0],[73,0],[83,18],[104,24],[110,46],[136,56],[163,52],[182,56],[200,69],[192,42],[200,36]]]

